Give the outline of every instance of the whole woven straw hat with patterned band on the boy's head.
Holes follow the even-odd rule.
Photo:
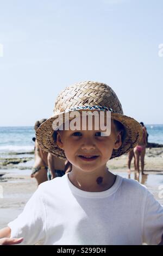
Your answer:
[[[109,110],[111,118],[123,124],[126,137],[119,149],[112,151],[111,159],[128,153],[142,137],[142,127],[135,119],[123,115],[123,110],[115,92],[106,84],[85,81],[66,87],[57,97],[53,116],[47,119],[36,131],[36,139],[42,150],[66,159],[64,150],[60,149],[53,139],[53,121],[60,114],[86,109]]]

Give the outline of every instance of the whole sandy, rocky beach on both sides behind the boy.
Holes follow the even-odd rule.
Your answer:
[[[37,188],[35,179],[30,178],[33,153],[17,154],[0,161],[0,228],[14,220]],[[3,158],[3,159],[2,159]],[[133,162],[131,174],[127,173],[128,156],[123,155],[108,162],[109,170],[126,178],[137,179]],[[134,160],[133,160],[134,161]],[[147,186],[154,197],[163,205],[163,148],[146,150],[145,173],[138,181]],[[162,191],[162,192],[161,192]],[[141,199],[140,199],[141,200]]]

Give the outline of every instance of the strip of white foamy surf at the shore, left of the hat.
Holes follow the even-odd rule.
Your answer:
[[[34,145],[5,145],[0,146],[0,152],[18,152],[28,153],[34,150]]]

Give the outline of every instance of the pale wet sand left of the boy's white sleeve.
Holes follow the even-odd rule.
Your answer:
[[[3,175],[2,178],[3,180],[0,181],[0,229],[21,213],[37,188],[35,179],[30,178],[30,175],[10,173]]]

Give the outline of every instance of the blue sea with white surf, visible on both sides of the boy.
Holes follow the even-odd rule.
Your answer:
[[[163,144],[163,124],[146,125],[148,142]],[[2,153],[29,153],[34,150],[33,126],[0,127],[0,155]]]

